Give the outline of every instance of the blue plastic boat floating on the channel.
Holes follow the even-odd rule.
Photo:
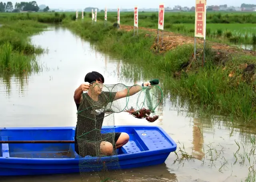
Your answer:
[[[158,126],[114,126],[114,129],[130,136],[130,141],[117,151],[121,169],[162,164],[177,148],[174,140]],[[104,130],[106,127],[102,127],[102,132]],[[74,127],[0,128],[0,139],[74,141],[74,132]],[[108,161],[113,157],[101,160]],[[79,160],[81,157],[74,151],[74,143],[0,144],[0,176],[79,173]],[[94,166],[96,160],[88,161]],[[110,170],[114,168],[113,164],[108,165]],[[90,170],[96,168],[90,167]]]

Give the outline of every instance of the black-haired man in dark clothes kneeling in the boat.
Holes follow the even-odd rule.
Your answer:
[[[95,71],[87,73],[84,78],[84,83],[81,84],[78,88],[76,88],[74,92],[74,101],[76,103],[77,110],[79,109],[79,107],[92,108],[92,105],[90,105],[90,101],[93,101],[93,103],[100,102],[102,103],[100,105],[103,106],[108,104],[108,102],[113,102],[114,100],[118,100],[126,96],[132,96],[133,94],[136,94],[142,89],[140,86],[132,86],[132,87],[128,87],[128,89],[120,90],[118,92],[105,92],[105,91],[102,91],[103,84],[104,84],[104,77],[102,76],[102,74]],[[150,82],[145,82],[142,84],[142,86],[150,86]],[[87,93],[83,94],[83,91],[87,91]],[[83,98],[83,96],[85,98]],[[107,100],[106,98],[110,98],[110,100]],[[92,109],[89,112],[88,111],[86,112],[86,117],[91,113],[92,113]],[[95,113],[95,109],[94,109],[94,113]],[[90,116],[88,116],[88,118],[90,118]],[[99,146],[96,146],[97,145],[96,142],[89,142],[89,139],[92,139],[91,141],[93,140],[96,141],[95,138],[99,135],[102,135],[99,133],[99,130],[101,129],[102,123],[104,120],[104,112],[96,116],[94,115],[92,116],[92,118],[96,118],[96,121],[94,119],[83,121],[81,119],[81,116],[78,114],[76,130],[75,130],[75,151],[78,155],[82,157],[87,155],[96,156],[96,154],[98,153],[97,148],[99,148],[100,153],[102,155],[111,156],[114,152],[114,149],[122,147],[129,141],[129,135],[127,133],[116,132],[114,133],[114,142],[112,140],[102,141],[100,142],[100,144],[98,144]],[[98,123],[100,124],[98,124],[96,127],[95,122],[97,122],[97,124]],[[80,131],[77,131],[77,130],[80,130]],[[80,134],[87,133],[88,136],[86,136],[86,141],[78,142],[77,133],[80,133]],[[111,138],[111,137],[106,136],[103,138]]]

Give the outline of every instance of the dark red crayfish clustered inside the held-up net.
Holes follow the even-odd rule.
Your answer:
[[[148,122],[154,122],[155,120],[158,119],[157,115],[150,117],[149,115],[151,113],[151,110],[146,108],[142,108],[140,110],[134,110],[134,108],[131,107],[129,110],[126,110],[126,112],[129,112],[135,118],[139,118],[139,119],[146,118]]]

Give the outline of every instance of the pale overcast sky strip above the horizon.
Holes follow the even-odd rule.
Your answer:
[[[1,1],[1,0],[0,0]],[[12,1],[12,0],[11,0]],[[25,0],[22,0],[25,1]],[[7,1],[5,1],[7,2]],[[12,1],[13,4],[20,1]],[[180,6],[195,6],[195,0],[36,0],[38,6],[45,4],[49,8],[63,8],[63,9],[76,9],[86,7],[97,7],[104,9],[105,6],[108,8],[158,8],[160,3],[164,3],[164,6],[174,7],[175,5]],[[227,4],[228,6],[240,6],[242,3],[256,4],[256,0],[207,0],[207,5],[220,5]]]

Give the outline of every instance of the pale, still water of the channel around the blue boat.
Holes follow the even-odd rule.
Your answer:
[[[27,78],[0,78],[0,127],[75,126],[74,90],[83,82],[85,74],[92,70],[101,72],[106,84],[142,82],[124,78],[121,75],[122,61],[97,52],[89,42],[81,40],[68,29],[52,28],[33,36],[32,42],[48,49],[47,53],[37,57],[44,65],[43,70]],[[241,182],[248,175],[253,176],[253,172],[248,172],[254,165],[254,157],[253,154],[248,158],[246,155],[255,148],[249,145],[254,129],[235,128],[221,119],[191,118],[178,112],[168,99],[164,108],[162,120],[154,123],[134,120],[124,113],[116,114],[116,125],[157,125],[178,144],[178,157],[172,152],[165,164],[122,170],[127,181]],[[80,180],[79,174],[0,179],[4,182]]]

